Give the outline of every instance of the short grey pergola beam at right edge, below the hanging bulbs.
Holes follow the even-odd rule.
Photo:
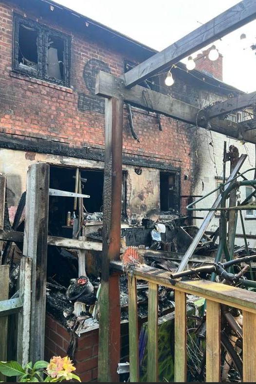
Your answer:
[[[241,109],[248,107],[256,103],[256,92],[250,94],[244,94],[229,98],[225,101],[217,102],[214,105],[203,108],[200,111],[198,119],[205,118],[211,119],[220,115],[227,115],[231,112],[240,111]]]

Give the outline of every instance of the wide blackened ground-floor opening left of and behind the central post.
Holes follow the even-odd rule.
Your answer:
[[[82,193],[90,195],[83,199],[83,205],[88,213],[103,211],[104,170],[80,169]],[[75,168],[50,166],[50,188],[74,192]],[[124,196],[124,197],[123,197]],[[122,187],[123,217],[126,215],[126,173],[123,173]],[[49,234],[52,236],[73,237],[71,228],[67,228],[67,213],[74,211],[74,197],[49,196]],[[85,212],[84,210],[84,212]],[[78,217],[78,203],[75,215]]]

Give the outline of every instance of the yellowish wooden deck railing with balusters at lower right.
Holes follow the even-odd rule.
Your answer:
[[[119,262],[113,267],[121,269]],[[148,281],[147,382],[158,381],[158,285],[175,290],[174,381],[186,382],[186,294],[206,299],[206,381],[220,381],[220,305],[243,311],[243,382],[256,382],[256,292],[205,281],[177,281],[168,272],[147,266],[128,278],[130,382],[139,382],[136,279]]]

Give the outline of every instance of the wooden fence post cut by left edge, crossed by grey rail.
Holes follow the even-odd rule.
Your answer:
[[[0,266],[0,301],[8,300],[9,296],[9,266]],[[8,316],[0,317],[0,361],[7,360],[7,333]],[[0,373],[0,380],[4,381],[5,376]]]

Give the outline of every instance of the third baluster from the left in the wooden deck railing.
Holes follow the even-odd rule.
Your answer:
[[[174,381],[185,383],[187,378],[187,318],[186,294],[175,290],[175,349]]]

